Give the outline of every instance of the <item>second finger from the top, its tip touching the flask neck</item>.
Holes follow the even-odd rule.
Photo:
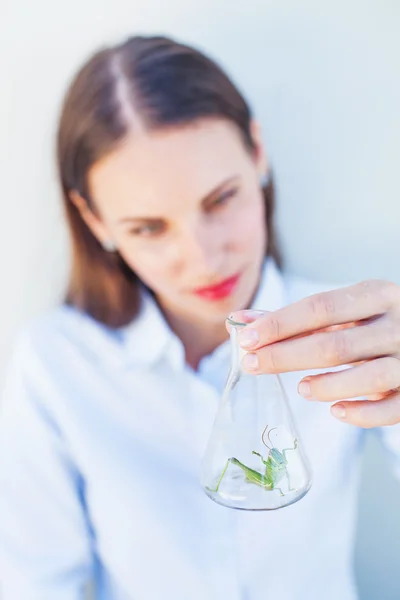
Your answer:
[[[253,361],[252,371],[285,373],[337,367],[398,352],[400,331],[391,321],[379,320],[351,329],[315,333],[264,346],[247,353],[243,362]],[[256,364],[257,358],[257,364]]]

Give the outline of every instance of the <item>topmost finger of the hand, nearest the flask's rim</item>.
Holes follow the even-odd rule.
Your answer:
[[[395,284],[371,280],[309,296],[250,323],[239,340],[245,349],[259,348],[307,331],[369,319],[387,312],[399,294]]]

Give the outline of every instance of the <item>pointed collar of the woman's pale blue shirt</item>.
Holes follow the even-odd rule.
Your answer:
[[[273,259],[268,258],[251,308],[275,311],[283,306],[284,299],[282,275]],[[181,341],[171,331],[156,300],[146,289],[141,290],[139,314],[122,329],[122,339],[125,345],[124,363],[129,366],[150,368],[163,356],[168,356],[176,365],[184,360]],[[227,348],[229,344],[222,344],[212,356],[224,354]]]

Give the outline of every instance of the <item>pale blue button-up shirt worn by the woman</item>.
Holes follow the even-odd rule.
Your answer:
[[[267,261],[253,307],[320,289]],[[24,333],[1,419],[4,600],[81,599],[90,577],[102,600],[356,598],[364,430],[283,375],[311,490],[277,511],[219,506],[199,468],[229,364],[227,342],[190,369],[150,296],[120,330],[64,306]],[[379,432],[400,467],[399,427]]]

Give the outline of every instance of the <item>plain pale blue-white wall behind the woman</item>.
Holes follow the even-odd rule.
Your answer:
[[[138,32],[199,45],[246,90],[277,176],[289,270],[400,283],[397,0],[0,0],[0,383],[17,329],[65,279],[52,145],[67,79],[99,44]],[[356,552],[363,600],[400,597],[399,501],[371,442]]]

